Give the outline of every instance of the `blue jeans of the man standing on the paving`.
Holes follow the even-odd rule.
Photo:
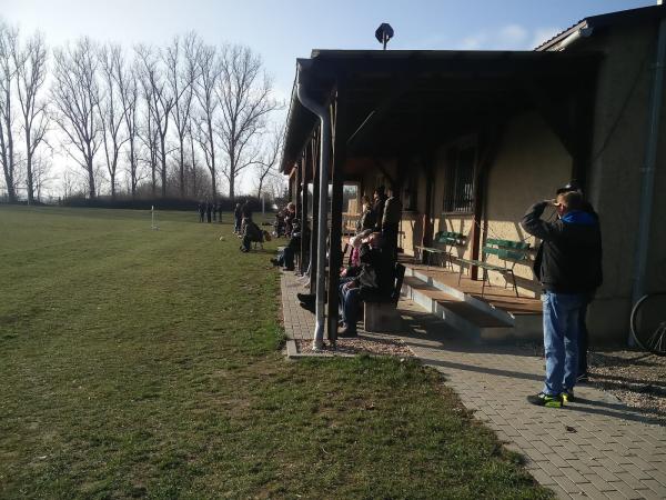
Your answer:
[[[583,293],[542,296],[544,304],[544,349],[546,381],[544,393],[557,396],[573,389],[578,374],[578,314],[585,303]]]

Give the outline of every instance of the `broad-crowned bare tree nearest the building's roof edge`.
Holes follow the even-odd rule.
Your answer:
[[[223,173],[229,197],[234,199],[235,181],[260,154],[259,138],[268,114],[279,108],[272,98],[272,84],[262,70],[261,58],[249,47],[225,46],[221,54],[222,76],[216,87],[222,108],[220,141],[226,156]]]

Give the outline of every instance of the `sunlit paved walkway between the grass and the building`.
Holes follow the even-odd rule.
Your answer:
[[[296,287],[284,274],[285,327],[287,336],[293,328],[292,336],[307,338],[312,317],[295,302]],[[508,449],[526,457],[541,484],[566,499],[666,498],[666,428],[649,416],[591,387],[576,388],[577,401],[565,409],[531,406],[525,397],[541,390],[544,373],[533,348],[471,344],[413,302],[401,300],[398,308],[401,337],[415,356],[441,371]]]

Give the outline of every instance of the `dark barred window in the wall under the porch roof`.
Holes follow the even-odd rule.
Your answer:
[[[451,149],[446,164],[444,187],[445,212],[471,213],[474,211],[474,164],[476,148],[455,147]]]

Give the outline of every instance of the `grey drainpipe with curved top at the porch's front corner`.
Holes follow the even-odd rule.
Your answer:
[[[324,347],[324,283],[326,276],[326,229],[329,210],[329,170],[331,162],[331,116],[327,106],[322,106],[310,98],[303,88],[304,74],[299,66],[296,83],[296,96],[299,101],[321,121],[320,143],[320,189],[319,189],[319,214],[316,232],[316,324],[314,327],[314,339],[312,349],[317,351]]]

